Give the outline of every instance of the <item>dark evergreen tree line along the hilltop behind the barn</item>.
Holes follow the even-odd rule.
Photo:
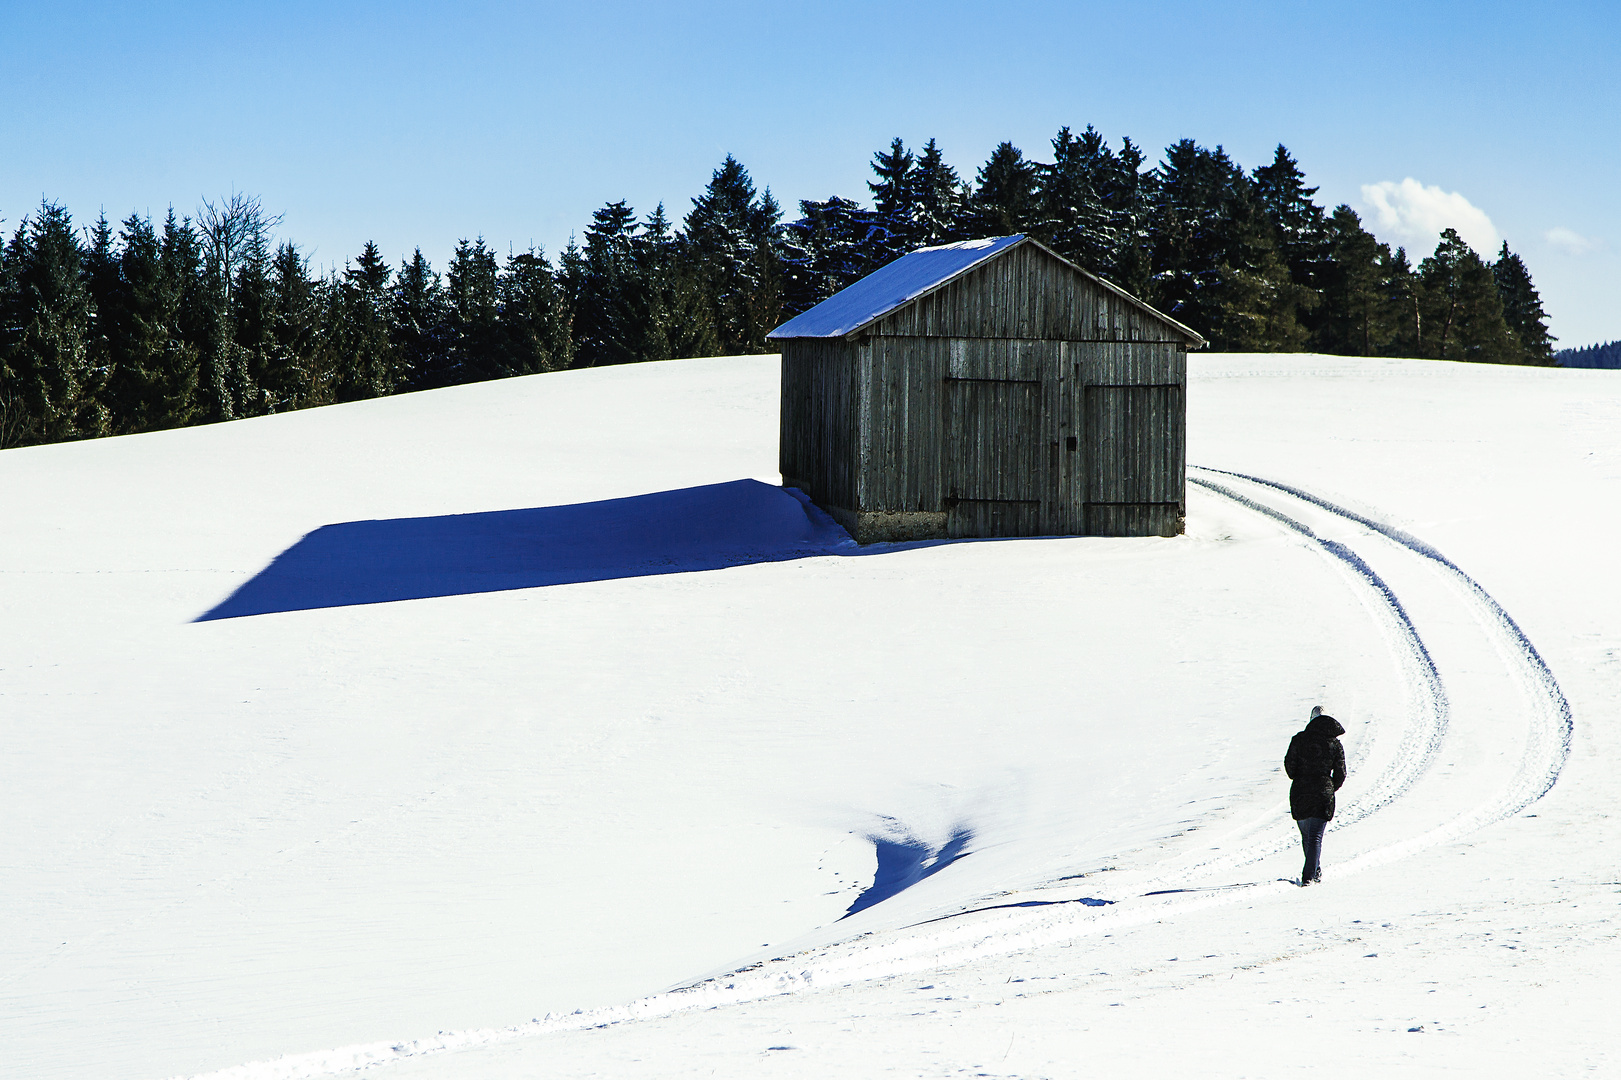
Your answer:
[[[728,156],[686,217],[624,201],[556,263],[462,240],[441,274],[374,243],[311,274],[258,199],[88,229],[44,201],[0,245],[0,448],[254,417],[574,366],[765,352],[765,334],[917,246],[1029,234],[1219,350],[1553,363],[1530,272],[1452,230],[1414,266],[1313,201],[1284,146],[1253,170],[1191,139],[1149,167],[1068,128],[973,180],[934,139],[874,154],[867,204],[783,221]]]

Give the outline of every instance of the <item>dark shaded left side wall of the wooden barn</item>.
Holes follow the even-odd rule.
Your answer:
[[[783,482],[814,501],[856,506],[859,384],[856,345],[783,342],[780,469]]]

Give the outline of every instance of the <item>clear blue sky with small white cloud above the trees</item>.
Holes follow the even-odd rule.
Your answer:
[[[1506,238],[1584,345],[1621,337],[1618,62],[1615,0],[0,0],[0,227],[238,190],[318,266],[376,240],[443,269],[462,237],[554,255],[609,199],[679,219],[728,152],[793,209],[864,196],[896,135],[971,177],[1091,123],[1154,161],[1284,143],[1418,253]]]

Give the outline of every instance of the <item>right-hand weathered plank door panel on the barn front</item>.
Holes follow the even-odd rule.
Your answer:
[[[1086,532],[1174,537],[1182,530],[1182,388],[1088,386]]]

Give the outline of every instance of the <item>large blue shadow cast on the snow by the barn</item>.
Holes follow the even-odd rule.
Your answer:
[[[572,506],[350,521],[316,529],[196,621],[898,546],[921,545],[859,548],[802,495],[757,480]]]

